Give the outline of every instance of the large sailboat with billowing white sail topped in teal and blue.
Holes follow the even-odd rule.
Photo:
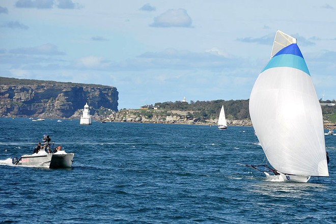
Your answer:
[[[259,74],[249,113],[268,162],[251,166],[273,181],[329,176],[322,110],[296,39],[277,31],[271,60]],[[269,174],[271,171],[273,174]]]

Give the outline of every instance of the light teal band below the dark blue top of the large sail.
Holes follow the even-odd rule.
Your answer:
[[[308,75],[311,75],[309,73],[307,65],[305,64],[304,59],[293,54],[279,54],[273,57],[261,72],[269,68],[276,68],[276,67],[296,68],[307,73]]]

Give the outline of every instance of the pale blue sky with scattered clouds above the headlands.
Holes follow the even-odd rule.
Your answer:
[[[336,99],[333,0],[1,0],[0,76],[113,86],[118,109],[248,99],[276,30]]]

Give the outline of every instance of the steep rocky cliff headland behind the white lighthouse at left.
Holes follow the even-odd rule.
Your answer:
[[[78,118],[88,103],[91,114],[118,111],[115,87],[0,77],[0,116]]]

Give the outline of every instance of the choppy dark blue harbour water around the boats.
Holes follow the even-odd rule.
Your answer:
[[[43,134],[75,153],[72,169],[11,165]],[[336,223],[325,139],[330,177],[270,182],[239,165],[265,162],[253,127],[0,118],[0,222]]]

